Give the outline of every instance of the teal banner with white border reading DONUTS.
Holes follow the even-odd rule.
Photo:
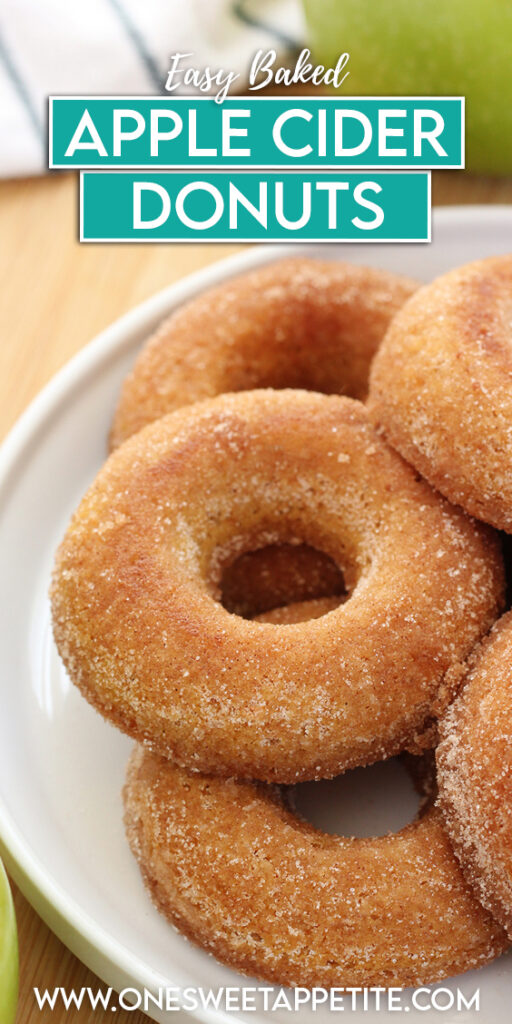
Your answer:
[[[84,171],[83,242],[428,242],[430,175]]]

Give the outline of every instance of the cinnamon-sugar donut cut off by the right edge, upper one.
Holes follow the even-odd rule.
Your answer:
[[[369,409],[451,502],[512,531],[512,255],[419,289],[372,368]]]

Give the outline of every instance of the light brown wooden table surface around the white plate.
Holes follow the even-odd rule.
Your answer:
[[[437,172],[435,204],[512,203],[512,181]],[[82,345],[131,306],[173,281],[233,253],[233,245],[80,246],[77,180],[55,174],[0,184],[0,436]],[[100,982],[15,892],[20,947],[18,1020],[41,1024],[33,986],[93,989]],[[48,1011],[46,1011],[48,1014]],[[53,1024],[92,1024],[101,1011],[51,1014]],[[45,1016],[46,1019],[46,1016]],[[119,1011],[117,1024],[142,1024]]]

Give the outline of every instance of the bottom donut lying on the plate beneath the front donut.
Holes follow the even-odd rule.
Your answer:
[[[400,831],[328,835],[276,786],[189,772],[138,746],[124,790],[157,908],[223,964],[280,985],[428,984],[501,953],[430,806]]]

